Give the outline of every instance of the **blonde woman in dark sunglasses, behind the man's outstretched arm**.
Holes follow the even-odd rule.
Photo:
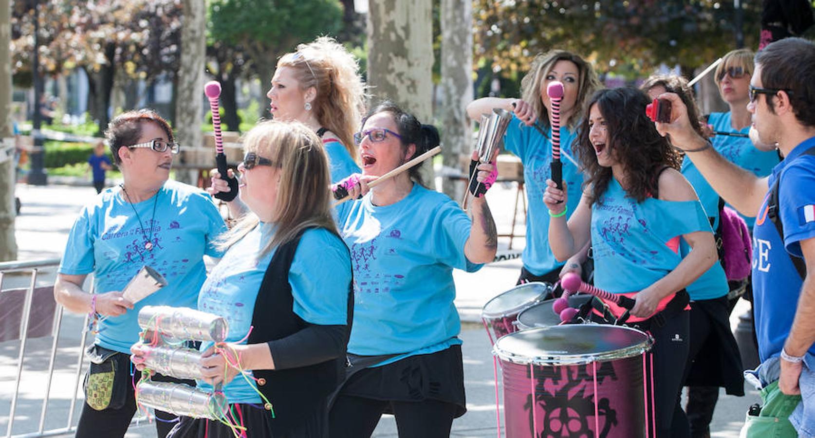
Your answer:
[[[711,112],[707,124],[713,130],[711,143],[716,151],[728,161],[743,169],[766,177],[778,164],[776,151],[760,151],[748,138],[751,114],[747,112],[750,103],[750,78],[753,75],[751,50],[739,49],[728,52],[716,68],[716,85],[721,99],[730,107],[729,112]],[[744,216],[742,216],[744,217]],[[755,217],[744,217],[747,228],[753,229]]]

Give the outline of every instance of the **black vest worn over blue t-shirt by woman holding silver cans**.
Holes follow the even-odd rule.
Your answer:
[[[263,276],[252,315],[252,333],[248,344],[261,344],[283,339],[308,326],[293,311],[289,269],[300,243],[301,231],[291,241],[280,245]],[[340,239],[337,236],[337,239]],[[315,266],[314,269],[320,269]],[[353,320],[353,281],[348,285],[348,333]],[[346,339],[346,343],[347,343]],[[328,418],[328,395],[345,373],[346,357],[288,370],[253,370],[258,390],[271,402],[275,418],[271,420],[275,436],[302,427],[315,413]],[[268,408],[267,408],[268,409]]]

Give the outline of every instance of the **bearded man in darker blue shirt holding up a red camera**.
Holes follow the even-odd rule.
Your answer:
[[[676,94],[660,97],[672,101],[673,121],[657,123],[659,132],[671,134],[729,204],[756,215],[752,282],[762,363],[747,379],[761,388],[764,418],[749,415],[742,436],[815,436],[815,44],[787,38],[756,55],[751,135],[756,144],[777,144],[785,157],[769,177],[729,163],[695,134]]]

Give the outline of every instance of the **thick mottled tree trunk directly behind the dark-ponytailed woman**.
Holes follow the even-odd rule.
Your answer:
[[[391,99],[423,123],[433,116],[433,20],[430,0],[368,4],[368,85],[374,101]],[[422,166],[434,188],[433,166]]]

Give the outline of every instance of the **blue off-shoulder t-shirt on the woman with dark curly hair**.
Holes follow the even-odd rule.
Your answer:
[[[667,241],[694,231],[713,232],[698,201],[637,203],[611,178],[592,205],[594,284],[613,293],[649,287],[682,261]]]

